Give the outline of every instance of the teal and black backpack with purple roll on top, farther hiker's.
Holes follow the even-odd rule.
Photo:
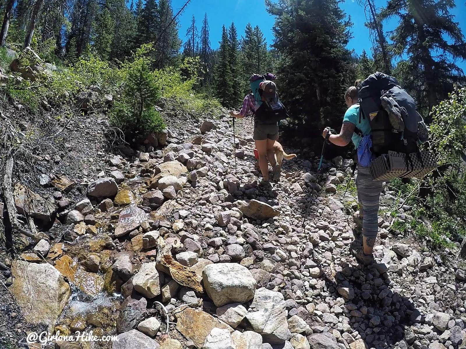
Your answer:
[[[262,90],[259,88],[260,83],[266,80],[274,81],[275,79],[276,77],[272,73],[262,75],[252,74],[249,78],[249,86],[251,87],[251,91],[254,95],[254,100],[256,103],[254,108],[254,116],[256,120],[259,120],[262,123],[273,124],[288,118],[288,111],[281,103],[280,99],[277,98],[275,101],[267,102],[262,101]]]

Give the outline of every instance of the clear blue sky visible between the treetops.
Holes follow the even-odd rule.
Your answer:
[[[185,0],[172,0],[173,12],[177,13],[184,3]],[[385,3],[384,0],[375,0],[377,7],[382,7]],[[455,0],[455,3],[457,7],[451,11],[451,14],[455,16],[455,21],[459,22],[466,36],[465,0]],[[340,6],[347,15],[351,16],[353,22],[351,28],[353,39],[349,41],[348,48],[354,49],[357,54],[361,54],[365,49],[370,54],[371,43],[369,30],[364,26],[366,18],[363,8],[357,4],[356,0],[345,0]],[[185,12],[179,17],[179,36],[182,40],[185,40],[186,29],[191,24],[192,15],[196,19],[196,26],[200,32],[204,13],[207,13],[212,48],[217,48],[219,45],[222,26],[227,27],[232,21],[235,23],[239,37],[244,34],[244,28],[249,22],[253,27],[256,25],[260,27],[268,45],[273,43],[274,17],[267,13],[264,0],[191,0]],[[388,21],[384,24],[384,29],[392,30],[396,24],[395,20]],[[466,61],[458,61],[457,64],[466,74]]]

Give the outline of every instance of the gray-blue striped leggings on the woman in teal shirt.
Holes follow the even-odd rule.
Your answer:
[[[378,208],[382,181],[373,181],[369,168],[359,166],[356,172],[359,214],[363,218],[363,236],[375,237],[378,231]],[[361,207],[362,206],[362,207]]]

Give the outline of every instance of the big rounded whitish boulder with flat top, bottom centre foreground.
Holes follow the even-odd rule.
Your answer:
[[[217,307],[250,301],[257,285],[251,272],[236,263],[209,264],[202,271],[202,280]]]

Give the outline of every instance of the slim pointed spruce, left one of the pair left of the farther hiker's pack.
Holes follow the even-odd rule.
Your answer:
[[[215,68],[216,95],[225,107],[232,107],[233,75],[230,68],[230,45],[225,26],[222,27],[222,40],[218,52],[219,62]]]

